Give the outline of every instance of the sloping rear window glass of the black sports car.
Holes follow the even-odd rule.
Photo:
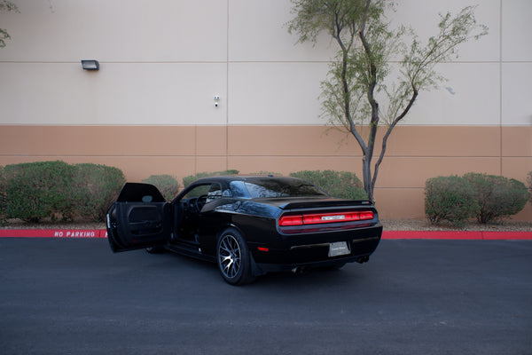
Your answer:
[[[326,196],[326,194],[318,189],[315,185],[296,178],[253,178],[242,182],[242,185],[237,185],[239,185],[237,188],[239,191],[238,194],[241,195],[243,193],[242,187],[244,187],[248,196],[252,199]],[[235,189],[232,187],[237,187],[237,185],[231,186],[233,193],[235,192]]]

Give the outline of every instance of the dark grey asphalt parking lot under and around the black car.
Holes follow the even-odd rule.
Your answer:
[[[532,241],[381,241],[270,274],[105,239],[0,238],[1,354],[532,354]]]

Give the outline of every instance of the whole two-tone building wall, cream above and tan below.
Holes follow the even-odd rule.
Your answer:
[[[0,12],[0,165],[64,160],[129,180],[200,171],[350,170],[353,139],[326,130],[319,83],[333,43],[294,45],[289,0],[14,0]],[[405,0],[394,23],[433,34],[464,0]],[[532,170],[532,25],[527,0],[483,0],[489,36],[438,68],[396,128],[377,183],[383,217],[423,217],[426,178]],[[98,72],[81,59],[98,59]],[[214,96],[220,96],[215,107]],[[532,207],[517,216],[532,219]]]

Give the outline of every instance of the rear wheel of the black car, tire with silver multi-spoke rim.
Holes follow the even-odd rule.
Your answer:
[[[226,230],[218,238],[216,264],[223,280],[231,285],[246,285],[254,281],[246,241],[233,228]]]

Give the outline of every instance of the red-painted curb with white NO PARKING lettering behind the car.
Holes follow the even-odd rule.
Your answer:
[[[105,229],[0,229],[0,238],[107,238]],[[532,232],[384,231],[382,239],[530,241]]]

